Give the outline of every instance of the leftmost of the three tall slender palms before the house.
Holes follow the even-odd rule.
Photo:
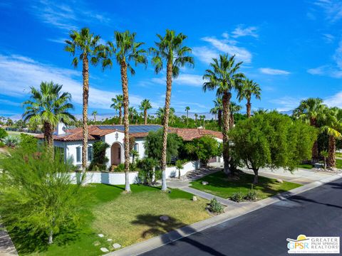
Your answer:
[[[81,31],[71,31],[71,40],[66,40],[64,50],[73,55],[72,64],[76,68],[78,61],[82,62],[83,75],[83,145],[82,145],[82,172],[86,172],[88,149],[88,97],[89,97],[89,59],[92,65],[97,65],[102,56],[103,46],[98,45],[100,36],[94,36],[89,28]]]

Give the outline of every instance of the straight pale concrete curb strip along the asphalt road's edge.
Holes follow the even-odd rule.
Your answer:
[[[336,175],[333,175],[330,177],[326,177],[326,178],[321,179],[320,181],[311,182],[309,184],[300,186],[299,188],[294,188],[291,191],[279,193],[276,196],[271,196],[269,198],[265,198],[261,201],[251,203],[251,204],[246,205],[246,206],[239,206],[239,208],[236,208],[236,209],[231,210],[231,211],[227,211],[226,213],[222,213],[220,215],[216,215],[212,218],[208,218],[206,220],[201,220],[197,223],[187,225],[187,226],[182,227],[182,228],[178,228],[177,230],[172,230],[169,233],[158,235],[155,238],[150,238],[149,240],[138,242],[134,245],[130,245],[130,246],[125,247],[123,249],[120,249],[120,250],[117,250],[114,252],[110,252],[110,253],[106,254],[105,256],[136,256],[136,255],[140,255],[144,252],[148,252],[150,250],[156,249],[157,247],[161,247],[162,245],[167,245],[170,242],[175,242],[175,241],[180,240],[182,238],[185,238],[189,235],[198,233],[198,232],[205,230],[207,228],[211,228],[214,225],[219,225],[219,224],[224,223],[228,220],[232,220],[234,218],[245,215],[247,213],[251,213],[254,210],[259,210],[260,208],[270,206],[273,203],[279,202],[279,201],[284,200],[286,198],[289,198],[291,196],[295,196],[299,193],[309,191],[312,188],[317,188],[318,186],[321,186],[325,183],[329,183],[331,181],[335,181],[339,178],[342,178],[342,174],[336,174]]]

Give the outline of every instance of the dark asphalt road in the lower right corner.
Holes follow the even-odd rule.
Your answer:
[[[342,236],[342,179],[142,255],[289,255],[286,238],[300,234]]]

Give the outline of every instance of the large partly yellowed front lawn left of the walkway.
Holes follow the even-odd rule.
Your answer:
[[[208,201],[177,189],[163,193],[160,188],[132,185],[133,193],[123,194],[124,186],[91,184],[85,189],[89,195],[81,212],[83,225],[74,235],[56,238],[48,250],[41,252],[19,251],[19,255],[101,255],[100,247],[113,250],[113,243],[127,246],[152,238],[184,225],[209,218],[205,210]],[[160,221],[160,215],[170,216],[168,222]],[[98,234],[105,235],[104,238]],[[62,244],[62,240],[68,240]],[[110,238],[112,241],[107,242]],[[19,241],[14,239],[19,245]],[[65,243],[65,242],[64,242]]]

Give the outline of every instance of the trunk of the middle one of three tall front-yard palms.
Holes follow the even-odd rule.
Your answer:
[[[121,63],[121,82],[123,85],[123,124],[125,126],[125,192],[130,192],[130,179],[128,172],[130,171],[130,121],[128,118],[128,78],[127,78],[127,64],[125,60]]]

